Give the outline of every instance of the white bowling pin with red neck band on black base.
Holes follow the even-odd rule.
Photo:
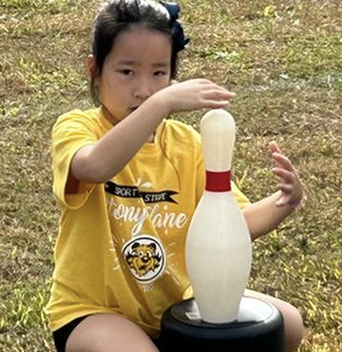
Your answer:
[[[233,116],[207,112],[200,134],[206,184],[189,225],[185,260],[202,320],[229,323],[237,318],[252,261],[250,233],[231,192]]]

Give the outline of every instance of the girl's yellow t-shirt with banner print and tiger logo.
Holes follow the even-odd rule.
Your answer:
[[[118,175],[66,194],[75,152],[111,127],[101,109],[73,110],[53,127],[53,192],[62,215],[46,312],[52,330],[79,316],[117,312],[156,337],[161,314],[189,288],[185,236],[205,186],[200,135],[163,121],[155,142]],[[243,207],[248,199],[232,186]]]

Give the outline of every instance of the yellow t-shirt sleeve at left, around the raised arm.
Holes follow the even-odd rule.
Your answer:
[[[96,142],[96,134],[91,127],[87,116],[79,110],[60,116],[53,126],[51,134],[53,194],[57,203],[70,209],[77,209],[83,205],[94,188],[93,184],[80,181],[75,194],[66,194],[66,182],[73,156],[81,147]]]

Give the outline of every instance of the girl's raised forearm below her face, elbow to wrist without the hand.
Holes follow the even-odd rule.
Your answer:
[[[72,162],[73,176],[92,183],[107,181],[133,158],[167,114],[166,107],[150,97],[96,144],[76,153]]]

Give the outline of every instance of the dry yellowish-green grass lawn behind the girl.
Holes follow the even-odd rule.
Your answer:
[[[296,305],[301,352],[342,351],[342,4],[339,0],[182,0],[179,79],[237,93],[235,178],[270,194],[276,140],[308,188],[305,208],[254,244],[250,286]],[[0,0],[0,350],[53,351],[49,297],[58,212],[49,135],[90,105],[84,63],[97,1]],[[180,114],[198,128],[202,112]]]

